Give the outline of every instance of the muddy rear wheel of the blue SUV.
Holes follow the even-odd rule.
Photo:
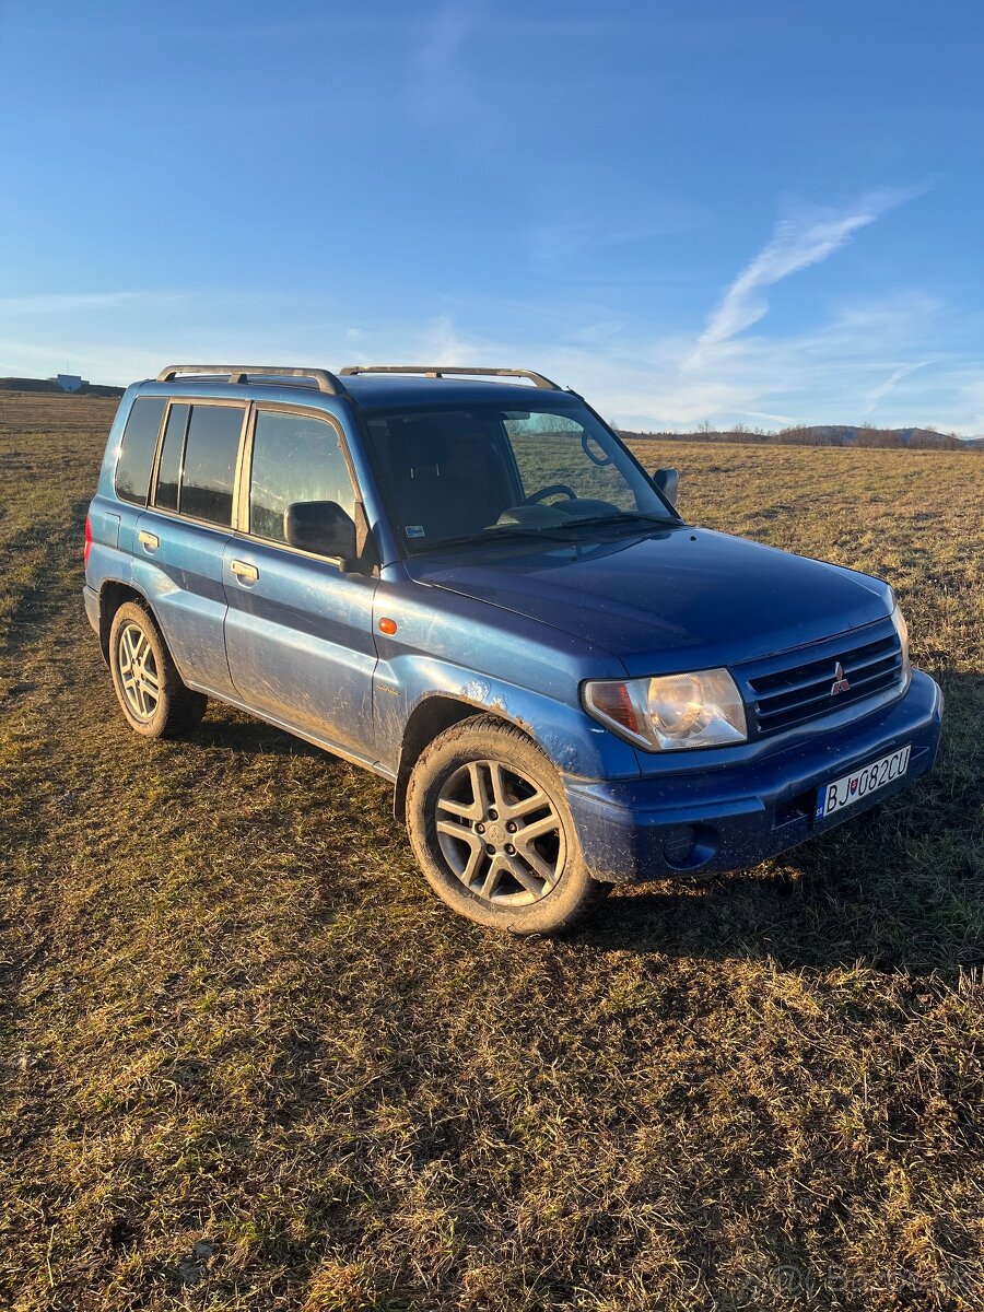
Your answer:
[[[127,601],[109,631],[113,687],[130,728],[144,737],[186,733],[209,705],[181,681],[151,613]]]

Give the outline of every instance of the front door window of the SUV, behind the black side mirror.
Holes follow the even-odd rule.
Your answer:
[[[253,429],[249,531],[286,542],[283,513],[295,501],[335,501],[354,518],[356,492],[332,424],[260,411]]]

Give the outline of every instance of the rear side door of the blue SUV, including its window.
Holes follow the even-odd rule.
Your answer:
[[[235,695],[226,660],[223,552],[247,407],[174,400],[164,417],[151,504],[136,521],[133,579],[151,602],[185,682]]]

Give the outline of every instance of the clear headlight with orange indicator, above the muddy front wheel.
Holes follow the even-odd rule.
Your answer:
[[[727,669],[584,685],[589,715],[649,752],[723,747],[748,737],[745,707]]]

